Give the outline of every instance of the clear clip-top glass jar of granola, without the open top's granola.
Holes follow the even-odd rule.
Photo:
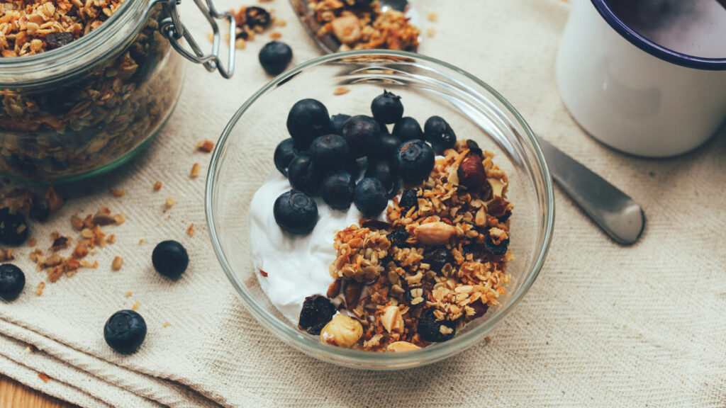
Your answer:
[[[120,166],[150,142],[184,77],[184,59],[160,29],[178,18],[169,4],[126,0],[68,45],[0,58],[1,174],[73,181]]]

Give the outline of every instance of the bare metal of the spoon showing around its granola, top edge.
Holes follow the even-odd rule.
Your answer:
[[[409,17],[411,24],[418,26],[418,13],[415,8],[411,7],[407,0],[378,0],[378,3],[380,4],[381,12],[386,12],[389,9],[398,10],[399,12],[403,12],[406,17]],[[298,15],[300,22],[303,23],[303,27],[308,35],[326,54],[333,54],[340,50],[342,44],[338,41],[338,38],[335,38],[333,33],[318,36],[317,33],[322,25],[315,18],[315,13],[311,12],[308,8],[306,0],[290,0],[290,4],[292,4],[295,14]],[[421,36],[418,37],[418,42],[421,42]],[[416,52],[415,49],[409,51]]]

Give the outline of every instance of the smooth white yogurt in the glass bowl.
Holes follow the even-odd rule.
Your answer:
[[[355,205],[348,211],[335,211],[316,198],[315,229],[304,236],[287,234],[274,221],[272,206],[291,188],[290,182],[275,172],[255,192],[250,203],[250,250],[262,290],[287,319],[297,324],[305,298],[325,295],[333,283],[328,266],[335,261],[335,234],[358,224],[362,213]]]

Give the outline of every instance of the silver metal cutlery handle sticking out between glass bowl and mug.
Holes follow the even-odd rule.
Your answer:
[[[631,245],[645,229],[645,213],[635,200],[578,161],[537,136],[552,179],[615,242]]]

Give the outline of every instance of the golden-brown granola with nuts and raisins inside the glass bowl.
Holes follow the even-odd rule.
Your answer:
[[[447,340],[506,292],[513,205],[493,157],[460,142],[420,187],[393,199],[388,222],[337,234],[327,295],[362,325],[357,347],[401,351]]]

